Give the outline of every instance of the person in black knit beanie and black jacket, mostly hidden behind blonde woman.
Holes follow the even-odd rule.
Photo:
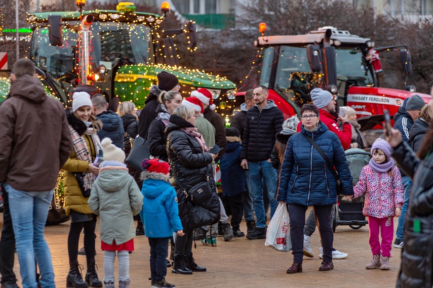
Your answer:
[[[180,89],[179,80],[177,77],[169,72],[161,71],[156,75],[158,77],[158,85],[150,87],[150,93],[144,101],[144,108],[140,112],[140,119],[138,121],[138,135],[146,139],[147,130],[149,130],[150,123],[156,118],[156,108],[158,108],[158,96],[163,91],[176,91]]]

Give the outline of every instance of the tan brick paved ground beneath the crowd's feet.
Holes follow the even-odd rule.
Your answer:
[[[99,223],[99,222],[98,222]],[[0,215],[3,226],[3,215]],[[395,228],[397,221],[395,221]],[[53,255],[56,284],[65,287],[68,273],[67,234],[69,222],[46,228],[46,238]],[[246,231],[245,223],[241,226]],[[99,227],[97,227],[99,233]],[[196,262],[207,267],[208,272],[194,272],[193,275],[172,274],[168,268],[167,280],[176,287],[395,287],[400,265],[400,249],[393,248],[390,260],[391,270],[367,270],[365,265],[371,259],[368,244],[368,226],[353,230],[348,226],[338,226],[335,232],[334,246],[346,252],[349,257],[334,260],[334,270],[319,272],[319,233],[311,237],[311,246],[316,257],[304,257],[303,272],[286,274],[292,263],[291,253],[283,253],[264,246],[264,240],[235,238],[224,242],[217,238],[217,246],[212,248],[196,241],[194,250]],[[83,239],[81,238],[81,243]],[[97,248],[100,248],[97,238]],[[82,245],[80,245],[82,246]],[[130,258],[131,288],[150,287],[149,245],[145,236],[135,238],[136,251]],[[97,249],[96,263],[99,266],[100,278],[103,278],[103,252]],[[86,257],[78,255],[78,261],[85,265]],[[15,272],[19,277],[19,266],[16,260]],[[116,263],[117,270],[117,263]],[[21,280],[19,280],[21,284]]]

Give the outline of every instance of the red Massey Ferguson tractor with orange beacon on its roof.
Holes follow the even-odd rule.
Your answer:
[[[414,86],[407,90],[379,86],[379,52],[400,49],[405,73],[412,73],[405,45],[373,49],[371,39],[334,27],[322,27],[304,35],[265,36],[265,24],[260,23],[259,30],[262,36],[255,40],[255,45],[262,54],[257,84],[268,87],[268,99],[277,104],[285,118],[299,114],[302,104],[311,102],[309,92],[317,87],[336,95],[339,106],[355,109],[358,117],[363,118],[360,120],[369,120],[367,129],[380,124],[383,109],[394,115],[405,99],[414,94],[426,102],[431,98],[415,93]],[[239,92],[237,96],[244,94],[245,91]]]

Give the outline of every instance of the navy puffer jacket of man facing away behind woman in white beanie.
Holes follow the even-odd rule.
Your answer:
[[[98,131],[99,139],[108,137],[113,141],[113,145],[123,150],[123,140],[125,130],[123,129],[123,123],[121,117],[111,110],[106,110],[96,115],[101,120],[103,127]]]

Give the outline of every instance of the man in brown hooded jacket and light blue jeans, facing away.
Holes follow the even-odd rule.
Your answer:
[[[72,142],[63,105],[45,94],[31,60],[15,62],[10,98],[0,107],[0,182],[9,196],[23,288],[55,287],[44,238],[58,173]]]

